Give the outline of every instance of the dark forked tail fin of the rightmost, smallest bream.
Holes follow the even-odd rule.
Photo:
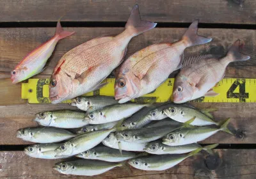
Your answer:
[[[237,40],[234,42],[234,44],[230,47],[228,50],[227,56],[228,56],[228,62],[231,61],[246,61],[250,59],[250,56],[246,56],[239,52],[241,49],[243,49],[244,43],[240,44],[240,40]]]

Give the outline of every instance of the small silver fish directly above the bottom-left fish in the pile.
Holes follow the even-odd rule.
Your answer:
[[[124,160],[132,159],[138,154],[134,152],[123,151],[122,154],[119,150],[114,148],[109,148],[107,146],[96,146],[90,150],[86,150],[82,153],[76,155],[83,159],[95,159],[95,160],[104,160],[107,162],[122,162]]]

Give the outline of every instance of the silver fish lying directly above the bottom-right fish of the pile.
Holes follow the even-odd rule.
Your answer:
[[[152,153],[156,155],[162,155],[162,154],[182,154],[182,153],[188,153],[192,152],[194,150],[197,150],[198,148],[202,148],[202,150],[211,150],[212,148],[215,148],[218,146],[218,144],[212,144],[209,146],[200,146],[200,144],[186,144],[182,146],[168,146],[166,144],[163,144],[161,141],[153,141],[152,143],[148,143],[145,152]]]

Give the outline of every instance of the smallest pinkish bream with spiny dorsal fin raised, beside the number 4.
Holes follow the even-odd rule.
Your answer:
[[[225,69],[230,62],[245,61],[250,59],[239,52],[240,40],[237,40],[230,47],[227,55],[223,58],[202,59],[201,56],[192,57],[195,63],[186,66],[177,75],[173,88],[173,102],[183,103],[200,97],[214,97],[218,93],[212,91],[217,82],[221,81],[225,75]],[[189,59],[188,59],[189,60]]]

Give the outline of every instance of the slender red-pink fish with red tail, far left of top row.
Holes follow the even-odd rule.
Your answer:
[[[61,27],[60,20],[57,23],[55,35],[43,43],[35,50],[30,52],[11,72],[13,84],[29,79],[33,75],[39,74],[44,70],[45,63],[52,55],[56,44],[62,38],[70,36],[75,32],[64,31]]]

